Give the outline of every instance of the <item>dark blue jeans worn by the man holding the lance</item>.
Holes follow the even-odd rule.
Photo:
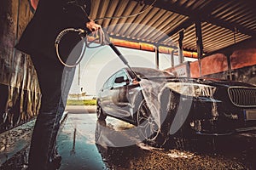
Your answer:
[[[44,56],[34,57],[32,62],[38,74],[42,99],[32,133],[28,167],[33,170],[49,170],[49,164],[55,155],[56,136],[75,68],[64,67]]]

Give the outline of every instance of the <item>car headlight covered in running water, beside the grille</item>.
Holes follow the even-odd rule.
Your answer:
[[[206,96],[212,97],[215,93],[216,88],[197,83],[189,83],[189,82],[168,82],[166,87],[171,88],[178,94],[183,94],[187,96],[199,97]]]

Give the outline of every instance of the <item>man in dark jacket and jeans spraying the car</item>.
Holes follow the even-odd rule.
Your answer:
[[[74,69],[65,68],[57,59],[55,38],[66,28],[88,31],[101,29],[89,19],[89,14],[90,0],[40,0],[32,20],[16,45],[17,49],[31,55],[42,93],[41,108],[32,133],[28,169],[49,170],[59,167],[61,157],[55,156],[55,140]],[[69,44],[65,46],[69,48]],[[66,56],[69,52],[64,50]]]

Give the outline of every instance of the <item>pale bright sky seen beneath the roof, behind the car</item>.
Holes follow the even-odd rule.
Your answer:
[[[132,66],[155,68],[155,54],[143,50],[131,48],[119,48],[119,51],[125,56],[128,64]],[[171,55],[160,54],[160,70],[171,67]],[[187,60],[195,60],[189,59]],[[177,56],[174,59],[177,65]],[[79,76],[80,67],[80,76]],[[76,73],[73,78],[73,84],[69,94],[86,93],[87,95],[96,95],[97,91],[102,88],[102,84],[114,72],[126,67],[119,57],[113,53],[108,45],[99,48],[86,48],[84,57],[76,67]],[[81,91],[81,88],[83,89]]]

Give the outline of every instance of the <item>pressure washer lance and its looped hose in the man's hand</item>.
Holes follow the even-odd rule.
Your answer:
[[[79,35],[81,36],[81,40],[83,40],[85,38],[85,41],[83,43],[82,53],[80,54],[78,61],[74,65],[67,65],[67,63],[65,63],[61,59],[61,56],[60,56],[60,53],[59,53],[59,43],[61,42],[61,38],[64,37],[69,32],[79,33]],[[109,47],[113,49],[113,52],[119,56],[119,59],[121,59],[123,61],[123,63],[131,70],[132,74],[137,79],[137,81],[140,82],[141,78],[137,76],[136,72],[133,71],[131,66],[128,64],[128,61],[125,59],[124,55],[121,54],[119,49],[116,48],[116,46],[113,44],[113,42],[110,41],[110,38],[108,37],[108,34],[106,34],[104,31],[102,31],[101,33],[102,33],[102,36],[101,36],[101,34],[99,35],[100,43],[102,45],[106,45],[108,43]],[[81,62],[81,60],[84,57],[86,47],[90,48],[89,43],[87,41],[87,36],[88,36],[88,32],[84,31],[83,29],[67,28],[67,29],[60,32],[60,34],[55,39],[55,51],[56,51],[57,57],[60,60],[62,65],[65,65],[67,67],[75,67],[75,66],[79,65],[79,63]]]

